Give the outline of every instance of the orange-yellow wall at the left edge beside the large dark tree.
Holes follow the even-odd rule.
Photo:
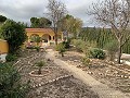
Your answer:
[[[0,54],[8,53],[9,45],[5,40],[0,39]]]

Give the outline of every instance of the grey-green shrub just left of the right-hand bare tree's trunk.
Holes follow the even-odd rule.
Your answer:
[[[109,60],[113,61],[115,59],[115,53],[118,51],[118,42],[116,40],[113,40],[106,44],[105,49],[108,52]]]

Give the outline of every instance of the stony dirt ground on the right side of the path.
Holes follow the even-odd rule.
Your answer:
[[[91,59],[91,65],[84,66],[81,63],[82,54],[74,51],[67,51],[65,57],[61,58],[61,56],[58,56],[57,58],[82,69],[98,81],[107,84],[109,87],[119,89],[130,96],[129,65],[118,65],[104,60]]]

